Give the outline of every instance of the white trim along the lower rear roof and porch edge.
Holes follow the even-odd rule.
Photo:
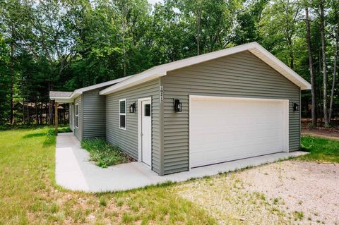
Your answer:
[[[79,89],[74,90],[70,96],[53,96],[53,97],[50,97],[50,99],[51,100],[55,100],[57,102],[72,102],[72,101],[70,101],[71,99],[75,99],[79,95],[83,94],[83,92],[87,92],[89,90],[94,90],[94,89],[97,89],[97,88],[100,88],[100,87],[114,85],[114,84],[119,83],[119,82],[121,82],[123,80],[126,80],[126,79],[128,79],[130,77],[131,76],[126,76],[124,78],[118,78],[118,79],[115,79],[115,80],[109,80],[107,82],[99,83],[97,85],[91,85],[91,86],[88,86],[88,87],[79,88]]]

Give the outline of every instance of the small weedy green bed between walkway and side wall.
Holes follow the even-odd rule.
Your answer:
[[[113,146],[100,138],[83,140],[81,147],[90,152],[90,161],[103,168],[130,162],[119,147]]]

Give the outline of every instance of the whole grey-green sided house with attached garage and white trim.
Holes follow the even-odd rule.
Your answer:
[[[311,85],[256,42],[76,90],[74,134],[105,137],[160,176],[299,150]],[[61,98],[62,97],[62,98]]]

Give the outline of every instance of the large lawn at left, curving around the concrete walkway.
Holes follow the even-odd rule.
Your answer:
[[[54,183],[49,128],[0,131],[0,224],[216,224],[177,184],[81,193]],[[117,181],[119,182],[119,181]]]

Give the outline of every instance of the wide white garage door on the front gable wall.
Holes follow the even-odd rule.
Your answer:
[[[288,151],[288,100],[190,96],[190,166]]]

